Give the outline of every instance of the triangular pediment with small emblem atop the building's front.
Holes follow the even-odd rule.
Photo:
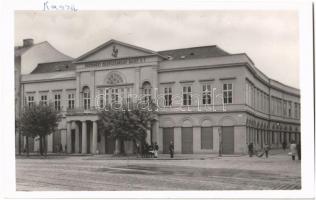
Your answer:
[[[78,57],[75,62],[90,62],[149,55],[158,55],[158,53],[117,40],[110,40]]]

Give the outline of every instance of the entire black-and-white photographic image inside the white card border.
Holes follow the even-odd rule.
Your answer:
[[[15,192],[303,191],[299,9],[42,8],[13,11]]]

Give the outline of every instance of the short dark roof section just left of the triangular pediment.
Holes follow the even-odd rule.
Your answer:
[[[31,72],[31,74],[72,71],[75,70],[75,65],[72,63],[72,61],[73,60],[39,63],[37,67]]]

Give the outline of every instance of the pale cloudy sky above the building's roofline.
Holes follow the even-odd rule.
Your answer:
[[[73,58],[110,39],[153,51],[218,45],[247,53],[268,77],[299,88],[295,11],[16,11],[15,45],[48,41]]]

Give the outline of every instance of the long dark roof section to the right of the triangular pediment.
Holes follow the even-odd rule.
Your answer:
[[[216,45],[159,51],[170,60],[209,58],[230,55]]]

